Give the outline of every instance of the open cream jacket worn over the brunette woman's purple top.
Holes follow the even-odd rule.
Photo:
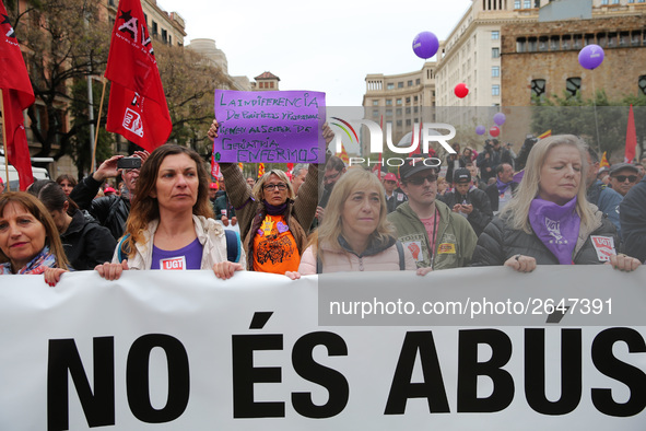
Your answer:
[[[192,215],[193,226],[198,241],[202,244],[202,261],[200,269],[211,269],[214,264],[226,261],[226,235],[224,228],[213,219],[207,219],[202,215]],[[129,269],[150,269],[153,258],[153,237],[160,224],[158,220],[153,220],[148,224],[144,231],[144,241],[134,245],[134,256],[128,258]],[[119,263],[119,247],[121,242],[117,244],[113,263]],[[126,254],[124,254],[126,256]],[[238,260],[245,266],[245,251],[240,249],[240,259]]]

